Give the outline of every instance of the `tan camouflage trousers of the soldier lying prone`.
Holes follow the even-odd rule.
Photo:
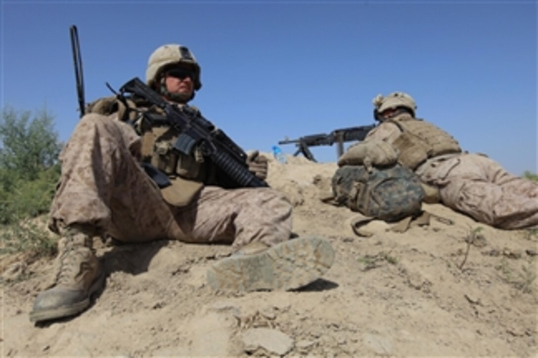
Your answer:
[[[538,183],[509,174],[484,155],[434,157],[416,174],[440,188],[443,204],[482,223],[505,229],[538,225]]]

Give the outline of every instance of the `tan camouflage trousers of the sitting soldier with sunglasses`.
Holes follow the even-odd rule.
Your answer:
[[[205,187],[187,206],[168,204],[138,164],[138,135],[114,118],[87,114],[63,148],[51,230],[76,223],[126,242],[225,242],[235,250],[289,238],[292,206],[270,188]]]

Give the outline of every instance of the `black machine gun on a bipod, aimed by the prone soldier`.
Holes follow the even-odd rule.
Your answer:
[[[341,157],[342,154],[344,154],[344,142],[364,140],[366,134],[368,134],[368,132],[370,132],[375,126],[375,124],[372,124],[369,126],[340,128],[330,132],[329,134],[320,133],[305,135],[305,137],[292,140],[289,140],[288,137],[286,137],[286,139],[279,141],[278,144],[295,143],[297,151],[293,154],[294,156],[302,153],[306,159],[315,162],[316,159],[308,147],[332,146],[336,143],[338,145],[336,148],[336,154],[338,157]]]

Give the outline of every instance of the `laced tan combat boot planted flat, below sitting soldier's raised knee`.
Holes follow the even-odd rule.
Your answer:
[[[39,293],[30,321],[73,316],[90,305],[90,298],[104,283],[101,264],[92,249],[93,237],[86,231],[69,227],[58,242],[54,282]]]

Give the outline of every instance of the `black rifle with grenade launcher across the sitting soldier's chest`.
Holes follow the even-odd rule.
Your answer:
[[[138,77],[125,83],[119,91],[121,98],[125,98],[126,93],[131,94],[164,110],[168,124],[180,133],[174,149],[190,155],[195,147],[200,148],[203,156],[208,157],[225,175],[225,178],[220,180],[226,182],[226,187],[268,186],[249,171],[243,149],[199,112],[188,106],[179,108],[165,101]]]

